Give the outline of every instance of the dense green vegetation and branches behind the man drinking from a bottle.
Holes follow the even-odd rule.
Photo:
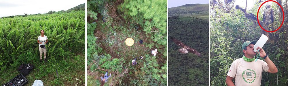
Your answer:
[[[278,0],[279,1],[279,0]],[[288,34],[287,34],[287,1],[283,2],[285,11],[285,21],[283,26],[276,32],[268,33],[262,30],[257,20],[251,19],[256,17],[258,7],[263,2],[256,1],[250,10],[244,13],[240,9],[235,9],[232,2],[211,2],[211,17],[210,17],[210,75],[211,85],[219,86],[226,85],[225,79],[231,63],[243,56],[241,46],[245,41],[258,40],[261,34],[268,36],[269,40],[263,46],[266,54],[274,62],[278,68],[278,73],[262,73],[261,86],[286,86],[288,82],[287,73],[287,51],[288,51]],[[280,4],[282,4],[280,2]],[[263,10],[265,4],[259,11],[259,21],[263,21]],[[244,8],[244,7],[243,7]],[[275,14],[275,21],[271,24],[274,28],[278,28],[282,19],[281,11],[276,3],[272,4],[272,9]],[[279,20],[280,19],[280,20]],[[280,22],[280,23],[279,23]],[[272,28],[273,28],[272,27]],[[266,28],[267,30],[267,28]],[[268,29],[269,30],[269,29]],[[271,31],[271,30],[270,30]],[[263,58],[260,58],[264,60]]]

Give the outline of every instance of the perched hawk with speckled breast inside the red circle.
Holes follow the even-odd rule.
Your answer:
[[[274,22],[274,11],[271,5],[266,6],[266,10],[263,13],[263,22],[266,25],[269,25]]]

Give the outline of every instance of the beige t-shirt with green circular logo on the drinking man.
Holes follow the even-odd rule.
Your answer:
[[[255,59],[256,60],[256,59]],[[243,58],[234,60],[227,75],[235,79],[235,86],[260,86],[262,72],[269,67],[266,62],[258,59],[247,62]]]

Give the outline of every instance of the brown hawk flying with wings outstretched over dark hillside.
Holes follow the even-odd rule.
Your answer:
[[[182,47],[181,49],[178,49],[181,53],[183,54],[186,54],[188,53],[188,51],[198,55],[198,56],[201,56],[201,54],[193,49],[193,48],[190,48],[189,46],[186,46],[185,44],[183,44],[182,42],[180,42],[179,40],[175,39],[174,37],[170,37],[172,39],[173,42],[175,42],[178,46]]]

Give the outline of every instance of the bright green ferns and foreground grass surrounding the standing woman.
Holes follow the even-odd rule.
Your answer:
[[[37,43],[40,30],[48,37],[48,62],[40,62]],[[26,76],[27,85],[32,85],[35,79],[42,80],[44,85],[85,85],[83,10],[0,18],[0,48],[0,81],[3,81],[0,84],[16,77],[20,64],[31,63],[35,67]]]

